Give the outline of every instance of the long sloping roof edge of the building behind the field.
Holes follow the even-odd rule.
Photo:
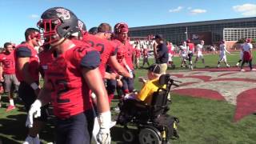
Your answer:
[[[209,24],[220,24],[220,23],[230,23],[230,22],[251,22],[251,21],[256,21],[256,17],[221,19],[221,20],[202,21],[202,22],[184,22],[184,23],[174,23],[174,24],[165,24],[165,25],[156,25],[156,26],[138,26],[138,27],[130,27],[129,30],[130,31],[150,30],[150,29],[170,28],[170,27],[178,27],[178,26],[200,26],[200,25],[209,25]]]

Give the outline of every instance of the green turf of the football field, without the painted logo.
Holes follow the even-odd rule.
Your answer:
[[[227,59],[230,66],[234,66],[239,58],[238,52],[228,55]],[[254,64],[256,64],[256,52],[254,51]],[[205,54],[206,66],[216,67],[218,54]],[[153,60],[150,60],[153,63]],[[170,73],[176,73],[180,68],[179,58],[174,58],[177,67],[175,70],[169,70]],[[222,66],[224,66],[222,64]],[[198,68],[202,68],[202,62],[198,62]],[[146,76],[146,70],[136,70],[135,87],[141,88],[138,83],[139,76]],[[173,143],[256,143],[256,115],[250,115],[242,118],[239,122],[232,122],[235,106],[223,101],[214,101],[202,98],[191,98],[178,94],[172,94],[173,104],[170,106],[169,114],[180,119],[178,133],[180,138],[172,141]],[[2,108],[0,108],[0,139],[3,144],[21,143],[26,138],[26,115],[22,108],[22,102],[15,98],[17,103],[16,110],[6,113],[8,99],[2,95]],[[118,100],[114,100],[112,107],[117,105]],[[122,128],[115,126],[111,130],[112,143],[123,143]],[[40,134],[43,143],[52,142],[54,139],[54,118],[50,118]],[[1,143],[1,142],[0,142]]]

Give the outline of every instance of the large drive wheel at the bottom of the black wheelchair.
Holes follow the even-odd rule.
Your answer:
[[[138,140],[140,144],[161,144],[162,141],[159,137],[159,131],[144,128],[138,134]]]

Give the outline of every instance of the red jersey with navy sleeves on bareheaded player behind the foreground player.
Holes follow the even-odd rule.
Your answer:
[[[18,58],[30,58],[29,61],[29,73],[30,76],[34,79],[34,81],[39,81],[39,59],[38,59],[38,52],[34,50],[34,47],[31,47],[27,44],[22,44],[16,47],[14,50],[14,58],[15,62],[17,63]],[[17,67],[17,65],[16,65]],[[22,82],[24,80],[22,74],[16,68],[16,76],[18,81]]]

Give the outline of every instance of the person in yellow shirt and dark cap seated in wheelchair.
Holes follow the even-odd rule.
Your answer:
[[[126,121],[130,121],[139,110],[145,110],[146,106],[151,105],[154,92],[158,91],[159,88],[166,88],[166,85],[159,83],[162,73],[163,70],[160,65],[151,65],[147,73],[148,81],[144,78],[139,78],[139,81],[144,83],[142,90],[138,94],[126,94],[120,108],[122,114],[126,114]],[[119,123],[123,122],[119,121]]]

